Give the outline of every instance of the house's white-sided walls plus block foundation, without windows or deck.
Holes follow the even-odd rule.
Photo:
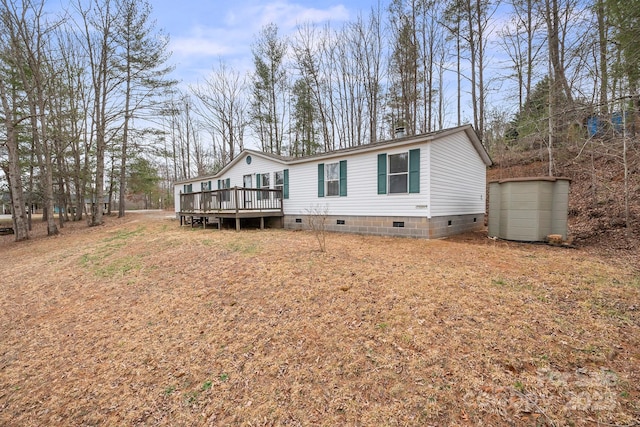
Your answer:
[[[378,155],[416,149],[420,150],[420,192],[378,194]],[[250,164],[247,156],[252,157]],[[346,196],[319,197],[318,165],[340,161],[346,161]],[[218,179],[241,187],[244,175],[251,175],[255,188],[256,175],[265,173],[270,174],[274,188],[274,172],[284,169],[289,178],[289,198],[283,200],[285,228],[306,226],[305,217],[314,210],[329,215],[331,231],[379,235],[438,238],[479,229],[484,223],[486,165],[466,131],[289,161],[245,151],[223,174],[211,178],[212,189],[218,188]],[[206,181],[193,181],[193,190]],[[182,184],[176,185],[176,201],[182,189]],[[296,223],[296,218],[302,223]],[[337,220],[345,221],[344,225],[336,224]],[[404,227],[393,227],[393,222],[404,222]]]

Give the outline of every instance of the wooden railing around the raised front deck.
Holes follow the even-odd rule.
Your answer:
[[[282,211],[282,190],[233,187],[180,194],[180,212]]]

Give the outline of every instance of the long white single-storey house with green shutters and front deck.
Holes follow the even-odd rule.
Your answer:
[[[470,125],[302,158],[244,150],[175,184],[176,216],[260,218],[288,229],[439,238],[484,225],[491,159]]]

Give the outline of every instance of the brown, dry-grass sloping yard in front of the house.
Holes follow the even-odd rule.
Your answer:
[[[165,214],[12,240],[2,426],[640,423],[631,256]]]

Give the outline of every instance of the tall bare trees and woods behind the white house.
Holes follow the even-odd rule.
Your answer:
[[[34,205],[49,234],[85,215],[100,224],[100,201],[120,216],[130,194],[168,206],[172,182],[215,173],[245,146],[297,157],[463,123],[494,159],[533,153],[550,175],[559,151],[610,156],[629,221],[640,0],[392,0],[340,26],[266,25],[253,70],[221,60],[191,85],[173,79],[169,34],[145,0],[53,13],[0,0],[0,17],[0,165],[16,240]]]

